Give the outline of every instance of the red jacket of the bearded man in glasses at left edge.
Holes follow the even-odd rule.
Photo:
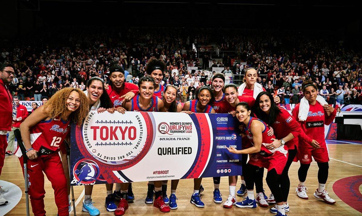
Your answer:
[[[0,119],[0,130],[10,131],[13,122],[13,97],[2,79],[0,79]]]

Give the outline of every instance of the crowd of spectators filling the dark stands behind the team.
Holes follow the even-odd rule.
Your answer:
[[[15,65],[10,91],[20,100],[40,101],[70,86],[85,90],[93,76],[109,82],[110,60],[127,70],[126,82],[137,83],[153,56],[165,61],[163,85],[177,86],[182,102],[194,99],[197,88],[211,86],[212,68],[223,68],[222,73],[232,74],[233,82],[241,84],[245,69],[253,67],[260,75],[258,82],[283,103],[298,103],[301,83],[312,80],[330,104],[361,104],[362,55],[340,38],[261,30],[215,34],[198,29],[67,27],[58,32],[3,40],[7,46],[0,62]],[[199,52],[193,44],[212,46]],[[191,73],[189,67],[198,69]]]

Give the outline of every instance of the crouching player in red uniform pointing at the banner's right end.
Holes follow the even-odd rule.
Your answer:
[[[251,116],[251,109],[247,102],[241,102],[236,106],[236,118],[245,124],[245,134],[252,142],[252,146],[243,150],[236,150],[233,147],[227,148],[231,153],[250,154],[250,160],[246,165],[245,181],[247,183],[248,196],[239,203],[240,208],[256,208],[256,200],[254,199],[254,179],[257,177],[256,172],[261,167],[268,169],[266,175],[266,183],[274,194],[277,202],[277,216],[285,215],[283,207],[282,189],[278,184],[278,179],[283,172],[287,161],[287,147],[281,145],[279,148],[269,150],[266,147],[275,136],[268,135],[268,126],[258,118]]]

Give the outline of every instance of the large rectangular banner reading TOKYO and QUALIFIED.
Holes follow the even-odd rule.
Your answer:
[[[229,114],[91,111],[71,130],[71,185],[241,175]]]

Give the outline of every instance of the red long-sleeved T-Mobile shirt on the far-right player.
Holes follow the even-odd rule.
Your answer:
[[[308,142],[310,143],[312,139],[315,139],[320,146],[325,145],[324,125],[329,125],[331,124],[331,122],[333,122],[334,117],[336,117],[337,113],[336,109],[334,109],[333,113],[328,116],[327,112],[324,111],[323,106],[320,103],[316,102],[316,104],[314,105],[309,105],[309,111],[306,121],[299,121],[299,105],[300,104],[295,105],[292,116],[295,118],[296,121],[298,121],[304,133],[308,137],[310,137],[306,139],[299,139],[299,144],[303,146],[309,146]]]

